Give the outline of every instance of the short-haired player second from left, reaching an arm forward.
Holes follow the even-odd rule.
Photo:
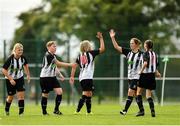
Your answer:
[[[42,90],[42,99],[41,99],[41,107],[43,115],[49,115],[47,113],[47,99],[50,91],[54,90],[56,93],[55,100],[55,108],[54,114],[62,115],[62,112],[59,110],[59,105],[62,100],[63,90],[61,88],[60,83],[56,78],[56,73],[58,71],[57,67],[72,67],[73,64],[60,62],[56,59],[56,42],[49,41],[46,44],[47,52],[43,58],[43,65],[40,73],[40,85]],[[63,75],[59,72],[60,78],[64,80]]]

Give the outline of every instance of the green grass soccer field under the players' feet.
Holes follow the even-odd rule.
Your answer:
[[[118,104],[93,105],[93,115],[86,116],[85,106],[80,115],[73,115],[76,106],[61,106],[63,115],[52,114],[53,104],[49,104],[49,116],[41,114],[40,106],[26,105],[25,114],[18,116],[18,107],[11,107],[10,116],[5,116],[4,106],[0,106],[0,125],[180,125],[180,104],[156,105],[156,117],[152,118],[149,106],[145,105],[145,116],[135,117],[138,111],[134,104],[126,116],[119,114],[123,106]]]

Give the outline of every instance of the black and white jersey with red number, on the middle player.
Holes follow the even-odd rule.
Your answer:
[[[79,81],[84,79],[93,79],[94,58],[99,54],[99,50],[92,50],[79,54],[76,63],[79,64]]]

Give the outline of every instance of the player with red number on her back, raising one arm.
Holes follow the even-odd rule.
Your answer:
[[[98,50],[92,50],[91,44],[88,40],[84,40],[80,44],[80,51],[78,58],[76,59],[76,67],[80,67],[79,81],[82,87],[82,97],[79,100],[79,104],[75,114],[78,114],[81,108],[86,102],[87,115],[91,112],[91,97],[93,91],[93,74],[94,74],[94,58],[105,51],[104,39],[101,32],[97,33],[97,38],[100,41],[100,48]],[[74,74],[76,67],[71,71],[70,83],[74,83]]]

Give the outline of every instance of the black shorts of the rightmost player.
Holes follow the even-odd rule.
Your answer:
[[[156,89],[155,73],[142,73],[140,75],[138,87],[155,90]]]

